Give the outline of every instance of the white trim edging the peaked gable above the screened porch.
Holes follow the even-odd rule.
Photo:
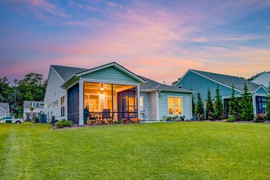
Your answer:
[[[138,80],[139,82],[143,82],[145,83],[146,81],[143,80],[142,78],[138,77],[138,75],[135,75],[134,73],[132,73],[131,71],[128,71],[127,69],[125,69],[124,67],[120,66],[119,64],[117,64],[116,62],[111,62],[109,64],[105,64],[105,65],[102,65],[102,66],[98,66],[96,68],[93,68],[93,69],[89,69],[87,71],[83,71],[82,73],[77,73],[75,74],[77,77],[78,76],[82,76],[82,75],[86,75],[88,73],[93,73],[95,71],[100,71],[101,69],[106,69],[108,67],[111,67],[111,66],[114,66],[116,69],[122,71],[123,73],[126,73],[127,75],[131,76],[132,78]]]

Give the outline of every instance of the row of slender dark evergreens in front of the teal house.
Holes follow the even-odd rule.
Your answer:
[[[197,92],[197,102],[192,96],[192,113],[197,114],[201,120],[222,120],[228,118],[230,121],[235,120],[253,120],[254,117],[270,120],[270,83],[267,94],[267,114],[254,114],[252,94],[249,92],[246,82],[244,82],[244,93],[240,97],[235,97],[235,87],[233,86],[231,97],[228,101],[229,112],[224,114],[224,102],[220,95],[219,84],[215,89],[215,99],[211,97],[210,89],[208,88],[206,104],[204,106],[201,100],[201,94]],[[205,109],[204,109],[205,107]]]

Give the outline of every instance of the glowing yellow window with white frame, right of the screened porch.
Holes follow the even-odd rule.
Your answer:
[[[168,97],[169,116],[182,114],[182,97]]]

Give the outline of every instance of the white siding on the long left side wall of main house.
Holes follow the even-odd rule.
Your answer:
[[[56,71],[51,67],[50,72],[48,75],[48,84],[46,87],[46,93],[44,96],[44,105],[46,104],[47,107],[42,108],[42,113],[46,114],[48,116],[49,112],[49,118],[51,118],[51,112],[53,112],[53,116],[55,116],[55,119],[61,119],[64,117],[60,117],[61,114],[61,97],[66,96],[66,90],[62,89],[60,85],[64,82],[62,78],[56,73]],[[66,97],[65,97],[66,98]],[[53,108],[53,102],[58,100],[57,107]],[[65,106],[66,111],[66,106]]]

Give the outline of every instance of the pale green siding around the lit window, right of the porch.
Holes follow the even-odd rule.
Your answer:
[[[163,92],[161,91],[162,96],[159,97],[159,119],[163,116],[169,116],[168,112],[168,96],[181,96],[182,99],[182,108],[183,112],[180,116],[186,116],[186,119],[192,118],[191,116],[191,93],[173,93],[173,92]]]

